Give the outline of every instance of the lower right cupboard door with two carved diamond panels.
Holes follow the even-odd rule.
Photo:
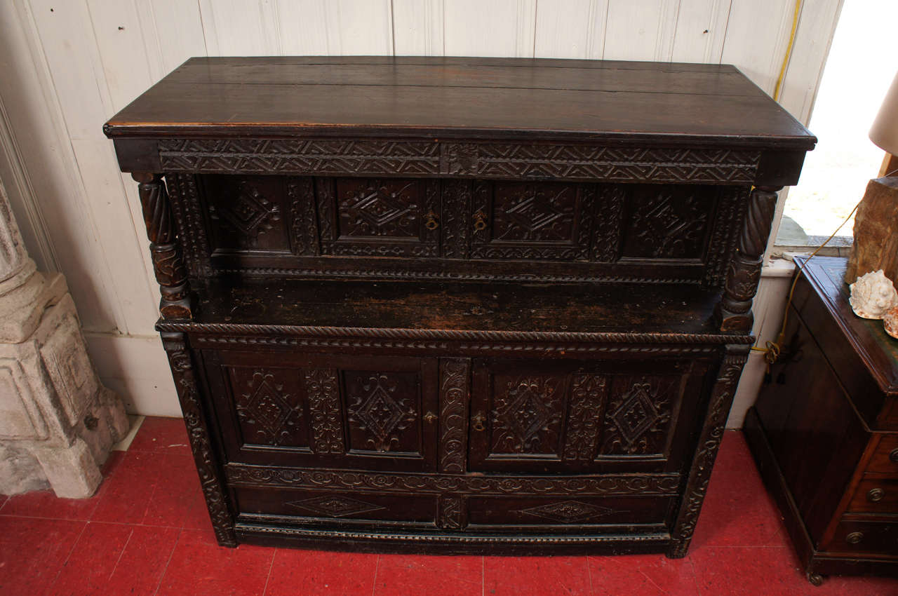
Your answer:
[[[471,398],[471,469],[673,471],[709,363],[480,361]],[[690,418],[686,418],[687,420]]]

